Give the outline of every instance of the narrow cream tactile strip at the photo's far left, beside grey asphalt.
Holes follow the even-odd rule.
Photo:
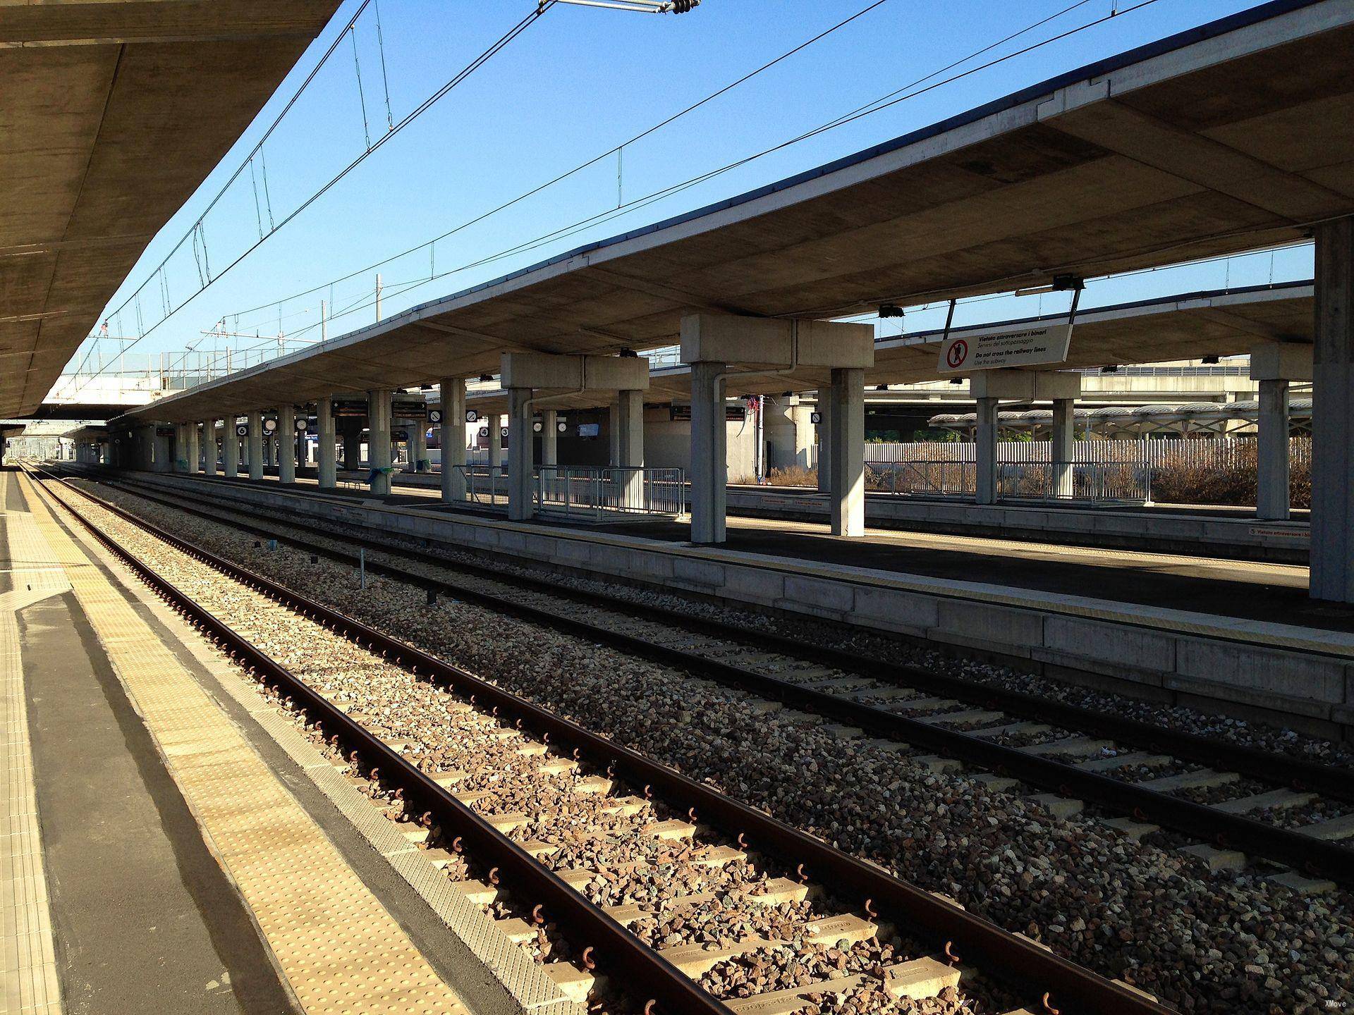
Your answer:
[[[15,474],[0,472],[0,503],[7,502],[12,482]],[[31,514],[7,510],[0,524],[14,579],[14,589],[0,594],[0,731],[5,762],[0,807],[0,1011],[60,1015],[61,983],[32,784],[18,613],[70,586],[65,572],[51,566],[51,551]]]

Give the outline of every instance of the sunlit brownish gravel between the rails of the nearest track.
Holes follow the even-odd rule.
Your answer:
[[[715,893],[714,899],[699,907],[653,922],[650,932],[662,932],[662,939],[654,943],[730,943],[756,937],[785,941],[792,954],[803,951],[793,966],[787,966],[796,970],[793,978],[708,976],[703,983],[716,996],[747,996],[746,991],[756,983],[773,983],[768,989],[815,983],[831,974],[831,961],[842,954],[853,957],[853,972],[879,966],[881,955],[894,960],[895,946],[875,937],[844,945],[839,950],[808,943],[804,941],[808,926],[849,912],[850,907],[842,908],[841,903],[826,896],[802,901],[756,901],[776,872],[758,870],[749,861],[718,867],[699,865],[699,849],[730,843],[709,836],[703,836],[699,842],[670,843],[647,834],[647,824],[676,817],[661,801],[612,793],[624,793],[623,786],[608,786],[605,792],[581,790],[582,780],[598,778],[585,773],[581,766],[542,775],[539,767],[543,755],[524,752],[521,748],[529,742],[521,734],[466,708],[464,702],[445,690],[376,660],[370,652],[318,624],[303,621],[261,595],[229,582],[204,564],[157,544],[126,522],[107,513],[102,516],[100,525],[119,543],[152,562],[177,587],[191,593],[198,602],[288,666],[328,700],[341,704],[349,716],[387,743],[399,744],[397,750],[420,769],[431,774],[456,773],[455,792],[468,807],[489,817],[520,816],[521,820],[508,831],[512,838],[521,843],[561,843],[562,847],[547,861],[556,870],[580,866],[596,869],[597,877],[584,888],[593,901],[600,905],[654,904],[659,908],[681,908],[682,896]],[[234,548],[269,554],[245,545]],[[394,591],[394,587],[385,586],[379,579],[368,585],[368,593],[376,597]],[[409,590],[403,587],[402,591]],[[448,602],[441,609],[451,614],[448,618],[454,618],[459,604]],[[314,729],[309,734],[311,742],[333,754],[333,748],[324,743],[322,734]],[[375,786],[371,796],[380,798],[387,816],[402,826],[418,828],[428,821],[406,813],[398,794],[390,797]],[[427,834],[425,844],[448,844],[437,826],[428,827]],[[458,865],[455,869],[464,873],[467,867]],[[487,911],[500,919],[524,916],[521,908],[512,899],[487,904]],[[551,932],[548,924],[538,927],[535,938],[525,943],[538,961],[575,954],[563,938]],[[898,953],[896,958],[904,961],[923,954],[926,953]],[[735,989],[741,992],[733,993]],[[959,995],[942,1010],[990,1011],[986,1007],[971,1007]]]

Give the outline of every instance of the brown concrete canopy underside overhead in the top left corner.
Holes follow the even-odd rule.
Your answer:
[[[37,411],[337,5],[0,3],[0,415]]]

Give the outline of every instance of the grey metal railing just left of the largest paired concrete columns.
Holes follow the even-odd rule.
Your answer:
[[[686,476],[680,468],[540,466],[536,509],[592,518],[607,513],[680,516],[686,513]]]

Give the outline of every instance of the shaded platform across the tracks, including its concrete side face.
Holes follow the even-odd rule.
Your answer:
[[[1016,539],[730,518],[720,547],[684,522],[509,522],[401,490],[133,474],[161,489],[301,512],[533,567],[688,590],[982,654],[1141,697],[1326,736],[1354,732],[1354,610],[1307,597],[1298,564],[1087,549]]]

